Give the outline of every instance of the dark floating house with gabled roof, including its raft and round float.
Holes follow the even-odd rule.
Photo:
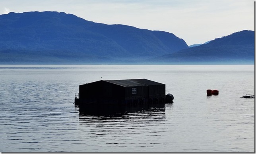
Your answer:
[[[165,95],[165,84],[147,79],[100,80],[79,86],[75,104],[136,105],[172,103],[173,95]]]

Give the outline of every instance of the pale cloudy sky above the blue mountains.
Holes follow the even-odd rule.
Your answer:
[[[188,45],[254,31],[254,0],[0,0],[0,14],[57,11],[173,33]]]

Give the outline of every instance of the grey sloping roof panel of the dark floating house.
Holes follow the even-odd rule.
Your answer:
[[[147,79],[127,79],[127,80],[104,80],[109,83],[120,85],[123,87],[136,87],[136,86],[151,86],[151,85],[164,85],[163,83],[158,83],[155,81]]]

